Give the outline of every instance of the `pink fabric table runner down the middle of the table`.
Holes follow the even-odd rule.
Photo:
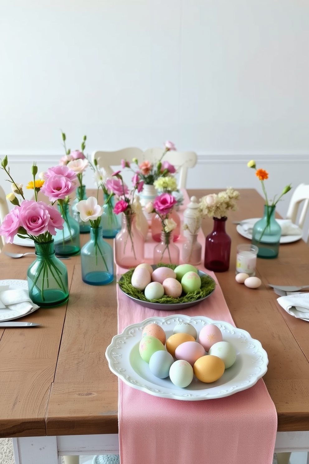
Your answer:
[[[185,204],[188,201],[185,193]],[[204,245],[202,231],[199,240]],[[145,262],[151,263],[155,245],[149,235]],[[217,282],[213,272],[202,264],[198,268]],[[117,275],[124,272],[117,266]],[[117,300],[118,333],[148,317],[175,314],[144,308],[127,298],[118,286]],[[207,316],[235,325],[219,284],[204,302],[177,314]],[[242,392],[202,401],[159,398],[119,380],[118,413],[121,464],[272,463],[277,412],[262,379]]]

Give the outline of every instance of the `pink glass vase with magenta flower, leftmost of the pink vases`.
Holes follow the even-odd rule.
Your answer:
[[[122,226],[115,237],[115,261],[129,269],[144,262],[143,234],[136,227],[135,213],[122,214]]]

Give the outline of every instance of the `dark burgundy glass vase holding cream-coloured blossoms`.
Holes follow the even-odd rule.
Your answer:
[[[227,217],[214,218],[214,229],[205,242],[204,265],[209,271],[225,272],[230,265],[231,237],[225,231]]]

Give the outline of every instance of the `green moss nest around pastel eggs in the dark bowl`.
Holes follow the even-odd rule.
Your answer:
[[[170,269],[175,269],[177,266],[175,264],[158,264],[158,267],[169,267]],[[216,283],[214,279],[210,276],[203,275],[201,277],[201,288],[199,290],[195,290],[194,292],[189,292],[187,294],[182,293],[179,298],[172,298],[171,296],[164,295],[160,299],[156,300],[147,300],[142,290],[135,289],[131,284],[131,277],[134,272],[134,268],[127,271],[125,274],[122,274],[118,284],[120,289],[126,293],[126,295],[132,296],[133,298],[137,298],[138,300],[142,301],[150,301],[151,303],[162,303],[162,304],[173,304],[173,303],[189,303],[190,301],[200,300],[201,298],[205,298],[211,293]]]

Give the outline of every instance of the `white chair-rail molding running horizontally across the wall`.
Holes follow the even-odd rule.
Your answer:
[[[2,159],[7,153],[0,152]],[[8,153],[10,164],[32,164],[33,161],[39,163],[50,163],[56,165],[59,163],[63,153]],[[258,164],[309,164],[309,154],[303,155],[252,155],[252,154],[205,154],[197,155],[197,164],[244,164],[254,159]]]

